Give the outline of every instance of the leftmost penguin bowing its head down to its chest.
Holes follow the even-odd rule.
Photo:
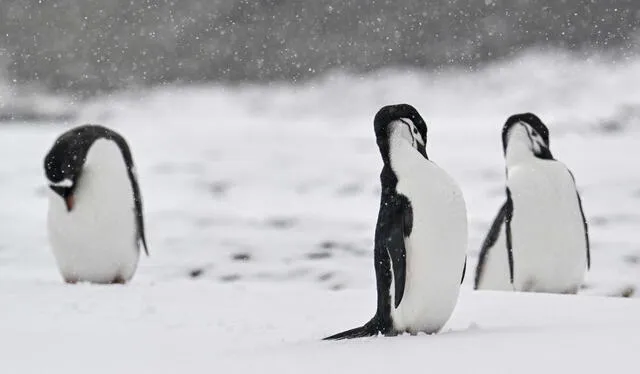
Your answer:
[[[73,128],[44,159],[47,228],[67,283],[124,284],[140,247],[147,256],[142,197],[125,139],[99,125]]]

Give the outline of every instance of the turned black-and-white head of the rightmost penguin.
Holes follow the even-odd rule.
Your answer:
[[[514,114],[507,119],[502,128],[502,149],[512,145],[523,146],[535,157],[553,159],[549,144],[549,129],[533,113]]]

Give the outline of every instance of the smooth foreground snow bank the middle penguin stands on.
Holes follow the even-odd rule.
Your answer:
[[[325,342],[370,317],[372,290],[186,280],[1,287],[0,358],[11,373],[626,373],[637,365],[640,303],[629,299],[463,292],[439,335]]]

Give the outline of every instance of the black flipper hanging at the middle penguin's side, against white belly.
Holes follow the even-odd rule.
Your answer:
[[[397,308],[404,295],[407,269],[407,251],[405,239],[411,234],[413,226],[413,211],[411,203],[402,195],[396,195],[383,206],[382,215],[387,222],[387,235],[382,240],[382,247],[391,261],[391,271],[394,283],[394,305]]]

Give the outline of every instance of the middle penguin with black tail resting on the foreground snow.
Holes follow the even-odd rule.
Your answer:
[[[411,105],[389,105],[376,114],[374,130],[383,161],[374,238],[377,309],[363,326],[324,340],[437,333],[464,279],[466,203],[427,156],[425,121]]]

